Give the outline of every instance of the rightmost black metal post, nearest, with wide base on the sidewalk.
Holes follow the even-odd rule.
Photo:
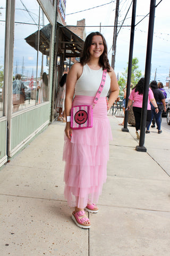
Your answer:
[[[147,106],[148,106],[148,92],[149,92],[149,82],[150,82],[152,42],[153,42],[153,35],[154,35],[155,8],[156,8],[156,0],[150,0],[148,43],[147,43],[146,65],[145,65],[145,84],[144,84],[144,91],[143,91],[141,130],[140,130],[139,146],[136,147],[137,151],[143,151],[143,152],[147,151],[144,145],[145,145],[145,130],[146,130]]]

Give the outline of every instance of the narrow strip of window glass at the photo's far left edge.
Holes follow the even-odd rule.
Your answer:
[[[4,47],[5,47],[5,13],[6,0],[1,1],[0,6],[0,117],[3,116],[3,93],[4,93]]]

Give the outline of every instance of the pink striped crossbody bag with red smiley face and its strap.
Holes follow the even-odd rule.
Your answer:
[[[93,106],[79,105],[79,106],[74,106],[71,108],[71,129],[79,130],[79,129],[86,129],[86,128],[92,127],[93,108],[95,107],[95,104],[97,104],[100,94],[104,88],[106,74],[107,74],[107,70],[104,69],[101,83],[100,83],[99,89],[97,90]]]

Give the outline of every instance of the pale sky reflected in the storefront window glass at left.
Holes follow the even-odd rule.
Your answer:
[[[22,4],[23,3],[23,4]],[[25,7],[29,12],[25,10]],[[6,1],[0,2],[0,70],[4,65],[4,45],[5,45],[5,12]],[[30,14],[30,15],[29,15]],[[44,21],[43,21],[44,17]],[[2,20],[2,21],[1,21]],[[24,38],[35,33],[38,30],[39,23],[39,4],[35,0],[15,0],[15,26],[14,26],[14,54],[13,54],[13,76],[20,73],[23,76],[36,77],[37,71],[37,51],[31,47]],[[49,23],[43,11],[40,9],[40,29]],[[39,52],[38,72],[39,78],[41,63],[43,62],[44,72],[48,74],[46,66],[46,55],[42,60],[42,54]]]

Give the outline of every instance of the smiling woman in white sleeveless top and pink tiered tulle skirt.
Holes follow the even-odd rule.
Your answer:
[[[69,116],[74,95],[73,106],[92,105],[104,69],[107,69],[106,82],[93,109],[93,126],[72,130]],[[109,89],[111,95],[107,107],[106,95]],[[106,181],[109,139],[112,139],[107,109],[111,108],[118,93],[116,75],[107,58],[105,38],[99,32],[91,33],[84,42],[80,63],[75,63],[67,75],[65,95],[64,195],[69,206],[75,207],[72,219],[81,228],[90,228],[84,208],[98,212],[94,203],[98,202]]]

